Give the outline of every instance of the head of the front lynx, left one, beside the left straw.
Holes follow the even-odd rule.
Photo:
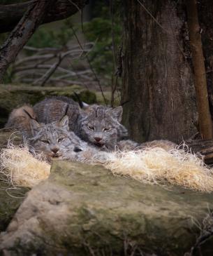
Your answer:
[[[44,124],[31,119],[29,146],[38,153],[43,153],[48,161],[62,159],[67,150],[81,151],[81,140],[68,128],[68,116],[60,121]]]

